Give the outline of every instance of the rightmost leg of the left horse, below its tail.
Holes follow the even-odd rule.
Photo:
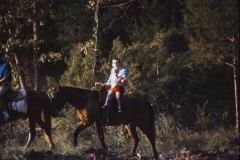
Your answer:
[[[37,120],[37,124],[39,125],[39,127],[41,127],[43,132],[43,137],[49,144],[49,150],[54,149],[55,145],[53,143],[52,136],[51,136],[51,126],[48,127],[47,124],[44,123],[41,119]]]

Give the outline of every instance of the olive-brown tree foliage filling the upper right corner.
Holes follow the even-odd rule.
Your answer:
[[[184,35],[195,63],[229,62],[239,25],[237,1],[185,1]],[[203,47],[204,46],[204,47]],[[231,63],[231,60],[230,60]]]

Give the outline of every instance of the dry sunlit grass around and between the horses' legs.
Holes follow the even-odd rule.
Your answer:
[[[76,116],[76,115],[75,115]],[[22,159],[25,152],[30,150],[47,151],[48,144],[41,131],[29,149],[23,147],[28,139],[26,132],[27,121],[20,120],[12,125],[1,127],[0,131],[0,159]],[[81,154],[89,148],[102,148],[95,128],[89,127],[78,136],[78,146],[73,147],[73,133],[78,120],[66,118],[53,119],[52,137],[55,142],[55,154]],[[13,127],[13,128],[11,128]],[[24,127],[24,129],[22,128]],[[238,145],[234,143],[234,129],[215,128],[212,130],[193,131],[176,125],[171,117],[159,115],[156,119],[156,146],[159,154],[176,157],[182,151],[203,150],[208,152],[231,154],[238,156]],[[124,126],[106,127],[105,141],[110,150],[116,154],[131,155],[132,142]],[[137,153],[153,157],[151,144],[148,139],[137,130],[140,142]],[[220,158],[221,159],[221,158]]]

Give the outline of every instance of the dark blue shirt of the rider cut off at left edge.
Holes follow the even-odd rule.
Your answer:
[[[5,83],[11,83],[12,81],[12,71],[11,66],[9,62],[7,61],[1,61],[0,62],[0,79],[6,77],[8,78],[7,82]]]

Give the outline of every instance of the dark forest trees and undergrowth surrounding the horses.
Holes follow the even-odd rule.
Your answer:
[[[152,104],[161,153],[205,148],[237,155],[222,146],[239,134],[237,0],[1,0],[0,37],[16,90],[92,89],[107,81],[116,55],[129,71],[125,94]],[[79,121],[74,109],[65,114],[53,119],[59,153],[70,152]],[[21,152],[27,137],[17,133],[26,128],[24,120],[1,127],[0,157]],[[80,143],[100,147],[93,132],[84,131]],[[129,150],[122,127],[109,132],[110,148]],[[151,155],[142,141],[139,152]]]

